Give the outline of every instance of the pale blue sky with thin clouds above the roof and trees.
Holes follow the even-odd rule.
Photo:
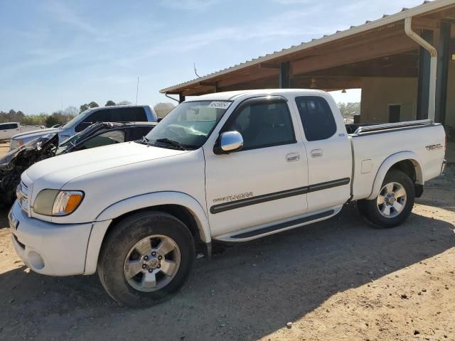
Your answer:
[[[51,113],[159,90],[422,0],[0,0],[0,110]],[[359,102],[360,90],[334,93]]]

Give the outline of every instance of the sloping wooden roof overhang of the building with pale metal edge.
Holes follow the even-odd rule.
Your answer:
[[[277,87],[281,63],[291,62],[292,75],[305,77],[311,72],[330,69],[339,65],[359,63],[365,60],[417,50],[417,43],[405,34],[405,18],[413,18],[414,30],[437,29],[441,18],[455,18],[455,0],[425,1],[412,9],[367,21],[307,43],[270,53],[225,70],[161,90],[166,94],[197,95],[215,91],[242,90],[245,88]],[[355,50],[354,50],[355,49]],[[269,83],[267,83],[269,80]],[[353,77],[352,85],[358,79]],[[333,86],[336,88],[336,86]]]

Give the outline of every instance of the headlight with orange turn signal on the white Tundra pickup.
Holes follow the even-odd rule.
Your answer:
[[[70,215],[83,198],[80,190],[42,190],[35,199],[33,211],[39,215]]]

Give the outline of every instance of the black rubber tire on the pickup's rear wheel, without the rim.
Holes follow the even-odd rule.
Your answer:
[[[404,207],[402,207],[402,210],[400,212],[395,212],[395,216],[385,217],[385,215],[380,212],[380,208],[378,207],[378,197],[382,194],[382,190],[385,188],[385,185],[390,183],[401,185],[402,188],[404,188],[405,204],[403,205]],[[365,219],[375,227],[382,229],[397,227],[398,225],[405,222],[405,220],[407,220],[407,217],[409,217],[411,214],[415,200],[414,183],[412,183],[410,177],[402,171],[389,171],[389,173],[385,175],[384,181],[382,182],[381,191],[378,197],[373,200],[358,200],[357,207],[360,214],[363,215],[363,217],[365,217]]]

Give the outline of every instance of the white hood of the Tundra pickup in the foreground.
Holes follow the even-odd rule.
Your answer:
[[[43,183],[39,184],[40,186],[61,188],[68,181],[82,175],[127,166],[132,163],[154,161],[182,153],[188,153],[188,151],[125,142],[48,158],[35,163],[28,168],[26,173],[33,182],[43,180]]]

